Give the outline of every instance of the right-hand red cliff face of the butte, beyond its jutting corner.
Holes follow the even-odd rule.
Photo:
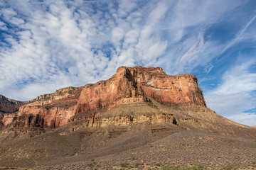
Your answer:
[[[146,96],[166,106],[206,106],[197,79],[191,74],[169,76],[161,68],[133,67],[128,69],[131,80]],[[118,71],[118,69],[117,69]]]

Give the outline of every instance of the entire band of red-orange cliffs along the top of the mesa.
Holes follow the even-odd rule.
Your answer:
[[[75,120],[75,115],[93,120],[115,106],[148,102],[150,98],[166,106],[206,106],[197,79],[191,74],[169,76],[159,67],[119,67],[117,74],[106,81],[60,89],[27,101],[18,113],[4,115],[2,124],[4,128],[57,128]],[[128,117],[121,119],[130,123]]]

